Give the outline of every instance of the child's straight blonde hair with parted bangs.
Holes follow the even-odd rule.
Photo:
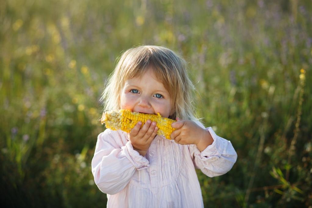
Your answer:
[[[100,101],[104,111],[120,109],[120,94],[124,83],[141,77],[152,69],[172,99],[171,119],[197,120],[194,116],[192,94],[194,85],[188,77],[186,62],[176,53],[161,46],[138,46],[125,51],[106,82]]]

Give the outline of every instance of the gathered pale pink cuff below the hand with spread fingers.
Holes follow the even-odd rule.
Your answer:
[[[136,169],[141,170],[149,167],[149,161],[133,149],[130,141],[121,149]]]

